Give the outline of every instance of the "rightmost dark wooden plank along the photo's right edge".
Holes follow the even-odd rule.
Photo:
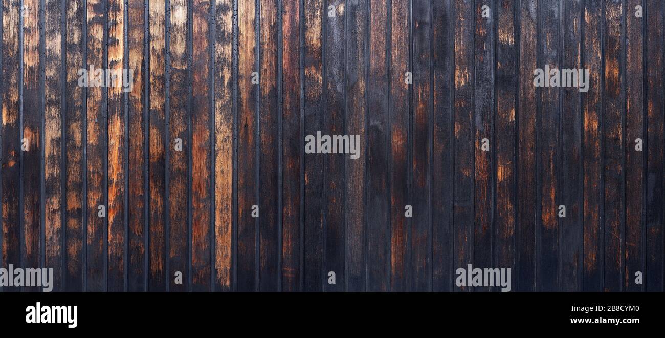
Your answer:
[[[646,3],[646,291],[663,291],[663,3]]]

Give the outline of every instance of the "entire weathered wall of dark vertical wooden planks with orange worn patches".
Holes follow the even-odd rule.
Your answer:
[[[664,6],[2,0],[0,265],[57,291],[490,291],[467,264],[662,291]],[[589,91],[536,88],[547,64]],[[360,158],[305,154],[319,130]]]

